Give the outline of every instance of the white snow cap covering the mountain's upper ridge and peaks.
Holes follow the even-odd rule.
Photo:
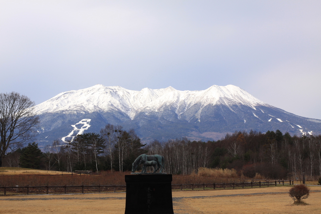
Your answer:
[[[199,103],[202,108],[208,104],[255,106],[268,104],[258,100],[245,90],[234,86],[213,85],[203,91],[178,91],[169,86],[164,89],[143,88],[141,91],[127,90],[120,86],[94,85],[89,88],[63,92],[35,106],[36,114],[64,110],[122,111],[130,118],[143,111],[160,111],[164,107],[176,108],[178,115]]]

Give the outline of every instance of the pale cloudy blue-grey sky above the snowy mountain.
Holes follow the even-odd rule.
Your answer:
[[[0,1],[0,93],[236,85],[321,119],[321,1]]]

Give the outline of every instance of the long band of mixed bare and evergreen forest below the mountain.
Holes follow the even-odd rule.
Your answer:
[[[108,124],[100,134],[78,135],[67,144],[55,140],[42,153],[37,144],[28,144],[6,156],[4,163],[58,171],[130,171],[141,154],[164,156],[165,172],[170,174],[197,173],[207,167],[235,169],[250,178],[258,173],[271,179],[301,179],[303,171],[306,177],[321,176],[321,136],[291,136],[280,130],[236,131],[217,141],[180,138],[142,144],[133,129]]]

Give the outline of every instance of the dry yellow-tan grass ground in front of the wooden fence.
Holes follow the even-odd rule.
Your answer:
[[[310,186],[306,206],[293,205],[290,186],[238,190],[172,192],[176,214],[317,213],[321,187]],[[125,212],[126,193],[1,196],[0,213],[115,213]]]

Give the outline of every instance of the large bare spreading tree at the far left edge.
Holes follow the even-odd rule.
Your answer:
[[[22,147],[36,136],[39,117],[33,112],[34,104],[16,92],[0,94],[0,167],[7,152]]]

